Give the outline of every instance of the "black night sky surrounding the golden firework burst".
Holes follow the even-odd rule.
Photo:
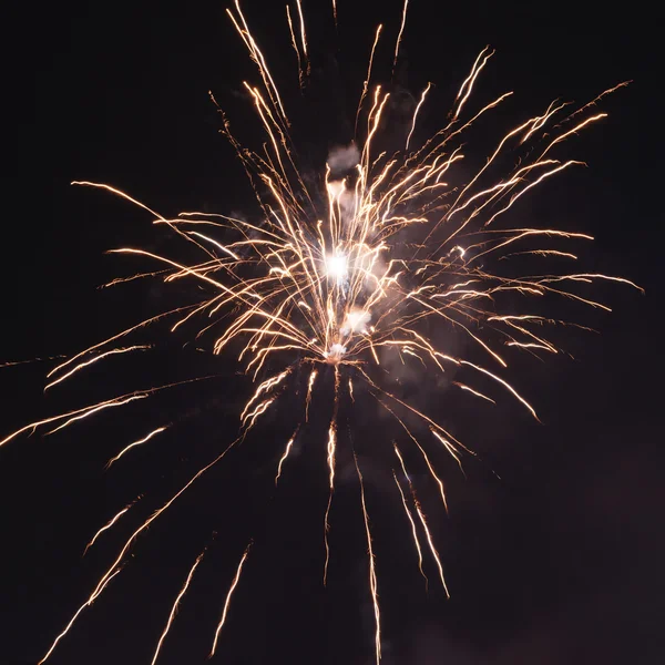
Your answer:
[[[542,426],[510,403],[485,411],[441,397],[438,412],[483,457],[468,461],[467,478],[454,463],[444,466],[449,518],[437,512],[436,492],[422,480],[449,601],[436,587],[431,562],[430,593],[424,593],[386,456],[377,452],[390,444],[393,427],[369,410],[345,415],[368,481],[385,663],[661,663],[665,367],[658,18],[642,2],[616,9],[446,4],[411,0],[399,73],[402,90],[416,95],[428,81],[437,84],[423,116],[432,133],[488,43],[497,55],[480,81],[479,100],[515,90],[512,104],[485,125],[491,136],[552,99],[583,103],[633,80],[602,103],[610,113],[602,125],[565,146],[564,154],[585,160],[589,168],[536,194],[522,212],[532,224],[594,235],[585,267],[633,279],[646,296],[600,287],[598,297],[614,311],[582,310],[579,318],[601,335],[569,331],[557,338],[574,359],[515,362]],[[315,63],[311,95],[327,104],[298,115],[305,156],[316,164],[348,139],[347,111],[361,85],[374,29],[383,22],[396,33],[401,4],[338,0],[337,44],[328,39],[330,3],[304,6]],[[277,75],[293,79],[282,3],[248,0],[244,8]],[[27,8],[7,21],[20,45],[6,58],[8,80],[16,82],[6,101],[16,112],[13,124],[6,125],[16,152],[6,160],[0,360],[72,354],[174,298],[187,298],[187,286],[96,288],[140,269],[105,249],[165,245],[149,215],[104,193],[71,187],[72,180],[110,183],[166,215],[255,212],[207,96],[212,90],[234,129],[250,142],[256,126],[241,82],[257,75],[224,10],[224,2],[208,1],[68,2]],[[379,66],[389,72],[389,53],[383,57],[388,70],[386,62]],[[41,387],[51,366],[0,369],[2,433],[151,382],[219,378],[52,437],[22,437],[0,451],[0,664],[37,663],[132,524],[233,439],[235,408],[246,387],[228,359],[168,344],[135,365],[91,370],[44,398]],[[325,397],[324,416],[313,419],[278,491],[272,479],[293,424],[289,402],[286,415],[274,416],[141,536],[126,569],[63,641],[53,665],[150,663],[186,571],[207,546],[160,659],[203,663],[249,539],[254,549],[216,661],[371,663],[374,620],[348,439],[331,514],[329,585],[321,586]],[[104,472],[123,442],[164,421],[175,424],[163,442]],[[139,495],[132,518],[82,560],[91,534]]]

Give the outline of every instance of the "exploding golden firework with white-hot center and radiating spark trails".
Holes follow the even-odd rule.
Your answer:
[[[334,1],[336,24],[337,9]],[[407,10],[408,0],[395,43],[393,69],[399,58]],[[582,164],[557,160],[555,149],[582,129],[602,120],[604,113],[593,112],[595,102],[616,88],[603,92],[573,113],[564,113],[567,110],[564,103],[552,103],[541,114],[512,127],[497,142],[484,165],[460,185],[457,184],[460,177],[457,173],[464,160],[460,142],[463,133],[482,122],[484,114],[512,94],[505,92],[469,112],[477,80],[493,52],[490,49],[480,52],[459,89],[447,124],[440,131],[424,142],[417,141],[419,113],[431,88],[428,85],[415,105],[402,145],[395,151],[379,151],[376,144],[386,132],[390,100],[390,92],[371,83],[375,51],[382,30],[379,25],[369,54],[366,80],[359,86],[356,139],[352,147],[345,153],[346,175],[338,177],[329,163],[313,185],[313,178],[305,177],[299,167],[286,104],[239,3],[236,1],[235,10],[227,12],[258,70],[260,84],[245,83],[245,89],[265,132],[264,152],[244,147],[233,134],[226,115],[221,109],[219,112],[223,131],[246,170],[262,214],[254,221],[197,212],[165,217],[110,185],[76,182],[78,185],[106,190],[142,207],[153,216],[154,224],[167,227],[183,243],[194,247],[201,259],[183,262],[137,248],[114,252],[143,257],[158,266],[155,268],[158,272],[147,275],[158,275],[165,283],[190,279],[212,295],[190,306],[164,311],[66,359],[49,374],[47,389],[84,374],[85,368],[93,364],[149,348],[126,340],[141,328],[157,321],[170,323],[171,332],[185,324],[196,325],[197,344],[207,345],[213,354],[237,350],[238,361],[255,388],[239,410],[238,438],[132,533],[41,663],[53,653],[81,612],[122,571],[136,538],[219,462],[231,448],[244,440],[266,413],[279,409],[289,387],[303,396],[303,402],[300,413],[295,415],[294,433],[283,443],[275,483],[288,464],[295,440],[306,436],[313,395],[323,383],[323,375],[332,377],[328,436],[327,441],[321,442],[327,450],[329,485],[327,509],[321,515],[326,548],[323,564],[325,582],[341,400],[348,398],[352,403],[354,390],[361,386],[365,393],[376,400],[377,409],[395,419],[398,433],[406,436],[407,444],[421,456],[447,509],[443,482],[431,461],[431,450],[442,447],[459,464],[462,456],[472,454],[472,451],[437,417],[391,388],[387,359],[397,357],[406,365],[412,364],[415,371],[419,372],[464,369],[464,376],[483,379],[482,386],[454,381],[451,389],[459,388],[471,398],[495,403],[495,392],[488,393],[487,388],[493,385],[497,392],[508,392],[538,419],[534,407],[507,378],[507,352],[500,349],[515,347],[535,355],[555,355],[560,349],[543,330],[548,325],[562,321],[544,316],[528,304],[552,296],[608,310],[604,304],[589,297],[586,291],[580,294],[575,288],[597,280],[638,288],[627,279],[601,274],[552,269],[539,275],[515,276],[491,267],[505,265],[499,264],[498,259],[516,255],[552,259],[563,265],[563,262],[575,260],[576,256],[572,250],[562,249],[562,242],[576,244],[593,239],[586,234],[565,229],[510,227],[503,221],[509,218],[507,213],[538,185]],[[309,47],[299,1],[296,2],[296,11],[291,12],[287,7],[286,19],[291,47],[297,54],[298,80],[300,85],[305,85],[310,75]],[[214,98],[213,102],[217,104]],[[529,150],[520,152],[516,165],[505,172],[505,155],[525,145]],[[495,174],[498,167],[503,170],[499,176]],[[456,184],[449,181],[456,181]],[[511,300],[511,307],[504,306],[505,298],[511,295],[519,296],[519,301],[524,304],[522,313],[515,314],[514,300]],[[487,362],[471,361],[441,347],[431,334],[434,325],[456,330],[467,338],[470,347],[475,347],[487,357]],[[32,422],[6,437],[0,446],[25,431],[45,428],[49,433],[55,432],[106,409],[147,399],[173,386],[175,383],[117,396]],[[143,432],[120,450],[109,466],[125,453],[131,454],[133,448],[158,437],[165,429],[167,424]],[[391,446],[395,451],[393,478],[411,526],[420,572],[424,575],[422,561],[428,553],[436,561],[440,584],[448,594],[443,565],[405,457],[397,443]],[[357,459],[355,462],[361,488],[378,663],[381,640],[375,550],[362,473]],[[100,529],[89,546],[130,509],[131,505],[122,508]],[[248,554],[249,548],[245,550],[229,584],[211,655],[216,652]],[[153,663],[202,557],[203,553],[193,563],[174,601]]]

